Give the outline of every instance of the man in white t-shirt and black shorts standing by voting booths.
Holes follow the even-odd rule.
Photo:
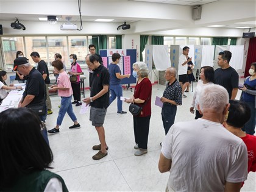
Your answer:
[[[192,58],[190,57],[190,59],[187,60],[188,52],[190,52],[190,48],[185,46],[182,49],[182,55],[180,55],[179,57],[178,75],[179,75],[180,86],[182,87],[183,98],[187,98],[187,96],[184,94],[184,91],[185,91],[185,88],[187,88],[188,84],[190,84],[188,80],[187,71],[188,71],[188,62],[190,62]]]

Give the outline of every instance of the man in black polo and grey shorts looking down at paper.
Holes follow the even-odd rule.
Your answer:
[[[90,104],[90,121],[99,135],[101,144],[94,145],[93,150],[99,150],[93,155],[94,160],[99,160],[107,156],[108,146],[105,141],[105,130],[103,127],[107,107],[109,105],[109,80],[108,69],[99,63],[99,57],[96,54],[88,54],[85,57],[88,68],[93,70],[91,80],[90,98],[83,99],[86,104]]]

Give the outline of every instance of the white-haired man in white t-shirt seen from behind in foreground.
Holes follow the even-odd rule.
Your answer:
[[[227,90],[208,85],[199,99],[202,118],[169,129],[158,163],[160,172],[170,172],[166,190],[240,191],[247,179],[247,149],[222,126],[229,106]]]

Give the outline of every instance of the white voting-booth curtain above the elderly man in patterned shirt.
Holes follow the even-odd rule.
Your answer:
[[[168,45],[153,45],[153,60],[157,71],[165,71],[171,66],[171,60],[168,54]]]

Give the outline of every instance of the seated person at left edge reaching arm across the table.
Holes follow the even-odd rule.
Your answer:
[[[7,72],[2,70],[0,71],[0,104],[4,98],[7,97],[8,92],[7,90],[16,90],[16,89],[21,89],[22,87],[14,87],[13,85],[8,86],[5,83],[5,80],[7,79]]]

